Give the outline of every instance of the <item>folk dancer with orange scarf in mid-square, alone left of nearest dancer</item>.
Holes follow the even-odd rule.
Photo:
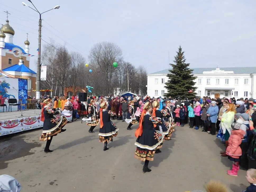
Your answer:
[[[117,136],[118,128],[117,126],[110,120],[110,116],[115,115],[111,111],[107,110],[108,102],[104,99],[100,102],[99,109],[99,121],[100,121],[100,129],[99,129],[99,141],[104,143],[103,151],[108,150],[107,144],[108,141],[113,141],[113,136]]]

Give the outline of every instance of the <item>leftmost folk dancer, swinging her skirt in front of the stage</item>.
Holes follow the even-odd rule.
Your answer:
[[[44,124],[40,141],[47,141],[44,152],[48,153],[52,152],[52,150],[49,149],[52,137],[60,132],[66,131],[66,129],[62,129],[62,127],[66,125],[67,119],[61,115],[60,108],[51,108],[52,99],[45,99],[42,105],[41,120],[44,121]],[[60,116],[54,116],[58,114],[60,114]]]

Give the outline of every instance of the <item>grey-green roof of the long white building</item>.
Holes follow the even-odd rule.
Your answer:
[[[171,68],[170,68],[171,69]],[[216,68],[191,68],[193,69],[193,74],[203,74],[203,71],[212,71],[216,70]],[[220,67],[220,70],[224,71],[234,71],[234,74],[251,74],[256,73],[256,67]],[[157,71],[150,74],[168,74],[169,69],[165,69],[162,71]]]

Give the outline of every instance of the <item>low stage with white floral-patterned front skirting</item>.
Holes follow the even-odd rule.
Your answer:
[[[72,122],[72,111],[68,115],[63,115],[68,122]],[[0,113],[0,137],[16,132],[43,127],[40,109],[28,109],[25,111],[1,112]]]

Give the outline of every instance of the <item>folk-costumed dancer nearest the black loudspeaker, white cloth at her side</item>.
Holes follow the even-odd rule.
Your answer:
[[[90,106],[88,105],[88,118],[82,118],[86,121],[87,125],[90,125],[89,133],[94,133],[93,129],[99,124],[99,118],[97,115],[97,108],[94,105],[94,99],[91,99]]]

